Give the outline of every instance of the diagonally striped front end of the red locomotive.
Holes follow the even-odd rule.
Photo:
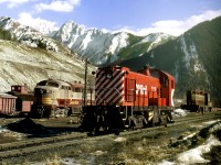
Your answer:
[[[124,72],[115,70],[107,78],[105,70],[99,70],[96,79],[96,103],[119,105],[124,96]]]

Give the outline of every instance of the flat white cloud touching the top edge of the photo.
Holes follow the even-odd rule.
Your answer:
[[[52,10],[59,12],[71,12],[76,6],[78,6],[81,0],[56,0],[51,3],[39,3],[35,6],[38,11]]]

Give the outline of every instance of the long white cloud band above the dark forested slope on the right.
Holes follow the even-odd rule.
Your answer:
[[[147,29],[133,30],[131,28],[123,28],[118,31],[126,31],[137,35],[147,35],[149,33],[164,32],[178,36],[191,29],[192,26],[197,25],[198,23],[212,20],[219,15],[221,15],[221,10],[209,10],[199,15],[192,15],[186,20],[161,20],[152,23],[151,26]]]

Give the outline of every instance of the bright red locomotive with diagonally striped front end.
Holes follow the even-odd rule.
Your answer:
[[[172,121],[175,78],[145,66],[98,68],[96,106],[83,107],[82,128],[90,131],[125,130]]]

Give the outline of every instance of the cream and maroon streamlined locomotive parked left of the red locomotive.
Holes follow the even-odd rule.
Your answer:
[[[66,82],[56,79],[46,79],[36,84],[34,88],[34,103],[32,117],[54,117],[80,113],[83,103],[84,84]],[[94,90],[88,88],[86,105],[94,103]],[[84,102],[85,103],[85,102]]]

